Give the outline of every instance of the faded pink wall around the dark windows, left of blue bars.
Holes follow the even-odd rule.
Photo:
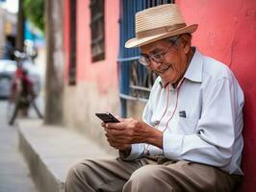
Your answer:
[[[69,59],[69,1],[64,0],[64,80],[68,82]],[[105,1],[105,58],[91,62],[90,0],[77,0],[77,83],[98,84],[100,92],[117,88],[117,54],[119,42],[119,1]]]

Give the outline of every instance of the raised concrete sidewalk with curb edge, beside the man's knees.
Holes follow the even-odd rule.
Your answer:
[[[18,127],[20,150],[41,192],[63,192],[67,171],[78,160],[115,157],[63,127],[44,126],[39,120],[20,120]]]

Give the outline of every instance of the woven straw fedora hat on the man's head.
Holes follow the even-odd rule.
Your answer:
[[[136,37],[126,41],[125,47],[142,45],[180,34],[192,34],[198,25],[187,26],[176,4],[164,4],[137,12]]]

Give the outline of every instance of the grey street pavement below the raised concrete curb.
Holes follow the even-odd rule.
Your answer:
[[[0,192],[38,192],[18,150],[17,128],[7,123],[7,106],[0,100]]]

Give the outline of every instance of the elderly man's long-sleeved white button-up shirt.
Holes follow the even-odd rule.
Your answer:
[[[163,150],[133,144],[126,159],[164,155],[243,174],[243,90],[231,70],[197,50],[184,81],[163,87],[158,77],[143,111],[143,121],[164,132]],[[165,131],[166,130],[166,131]]]

